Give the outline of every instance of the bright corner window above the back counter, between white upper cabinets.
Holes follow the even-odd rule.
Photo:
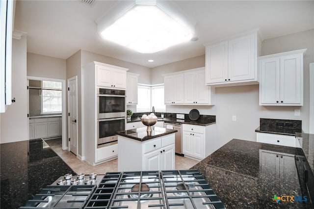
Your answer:
[[[137,89],[138,101],[136,105],[137,112],[150,112],[152,106],[156,112],[164,112],[166,105],[164,104],[164,85],[138,85]]]

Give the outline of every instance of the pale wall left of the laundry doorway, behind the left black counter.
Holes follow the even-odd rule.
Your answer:
[[[28,140],[26,36],[12,40],[12,98],[15,103],[1,113],[0,143]]]

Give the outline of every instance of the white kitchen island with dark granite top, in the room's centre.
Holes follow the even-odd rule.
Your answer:
[[[175,132],[146,127],[116,132],[118,135],[118,171],[173,170],[175,168]]]

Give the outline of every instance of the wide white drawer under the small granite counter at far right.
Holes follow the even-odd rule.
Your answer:
[[[275,144],[281,146],[295,147],[295,136],[273,134],[273,133],[257,133],[257,141],[267,144]]]

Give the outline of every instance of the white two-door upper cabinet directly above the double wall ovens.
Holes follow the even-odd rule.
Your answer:
[[[95,62],[97,86],[117,89],[127,88],[127,68]]]

